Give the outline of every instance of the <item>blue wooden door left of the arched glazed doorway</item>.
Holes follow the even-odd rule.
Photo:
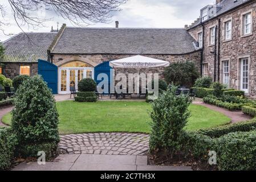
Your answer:
[[[42,75],[53,94],[58,94],[58,67],[56,65],[38,60],[38,75]]]

